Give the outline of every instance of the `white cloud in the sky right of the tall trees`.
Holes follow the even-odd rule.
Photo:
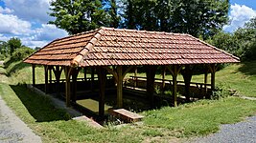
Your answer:
[[[245,22],[256,16],[256,10],[252,10],[244,5],[231,5],[229,15],[230,24],[223,27],[224,31],[235,31],[239,27],[243,27]]]

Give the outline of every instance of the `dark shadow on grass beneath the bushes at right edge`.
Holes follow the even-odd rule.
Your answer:
[[[247,75],[255,75],[256,74],[256,61],[244,62],[242,67],[238,69],[239,72],[243,72]]]

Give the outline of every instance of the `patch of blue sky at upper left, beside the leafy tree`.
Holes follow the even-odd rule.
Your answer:
[[[5,6],[12,11],[14,15],[27,21],[37,21],[47,23],[53,20],[47,12],[49,12],[51,0],[3,0]]]

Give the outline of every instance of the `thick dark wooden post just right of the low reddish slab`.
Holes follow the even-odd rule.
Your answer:
[[[156,72],[156,66],[147,66],[147,95],[151,102],[151,107],[153,107],[153,93],[154,93],[154,76]]]

